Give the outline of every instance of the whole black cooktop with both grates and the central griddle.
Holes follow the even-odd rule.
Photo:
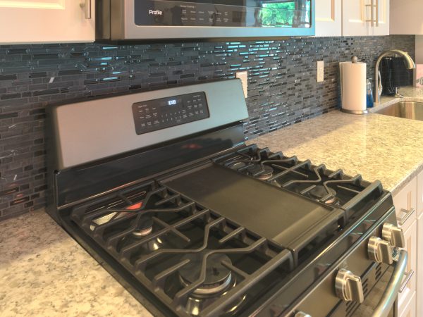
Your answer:
[[[248,316],[381,199],[379,184],[252,147],[90,199],[69,219],[175,316]],[[317,185],[340,200],[307,196]]]

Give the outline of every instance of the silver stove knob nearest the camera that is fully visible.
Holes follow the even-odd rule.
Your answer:
[[[364,302],[363,285],[360,276],[341,268],[335,278],[336,296],[346,302]]]

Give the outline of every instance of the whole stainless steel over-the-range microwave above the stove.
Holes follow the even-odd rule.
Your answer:
[[[315,0],[97,0],[97,40],[314,35]]]

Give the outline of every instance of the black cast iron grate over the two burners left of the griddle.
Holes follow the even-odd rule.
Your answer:
[[[293,270],[287,249],[154,181],[71,218],[178,316],[238,316]]]

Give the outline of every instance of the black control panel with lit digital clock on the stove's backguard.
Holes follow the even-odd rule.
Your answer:
[[[206,94],[195,92],[133,104],[137,135],[209,118]]]

